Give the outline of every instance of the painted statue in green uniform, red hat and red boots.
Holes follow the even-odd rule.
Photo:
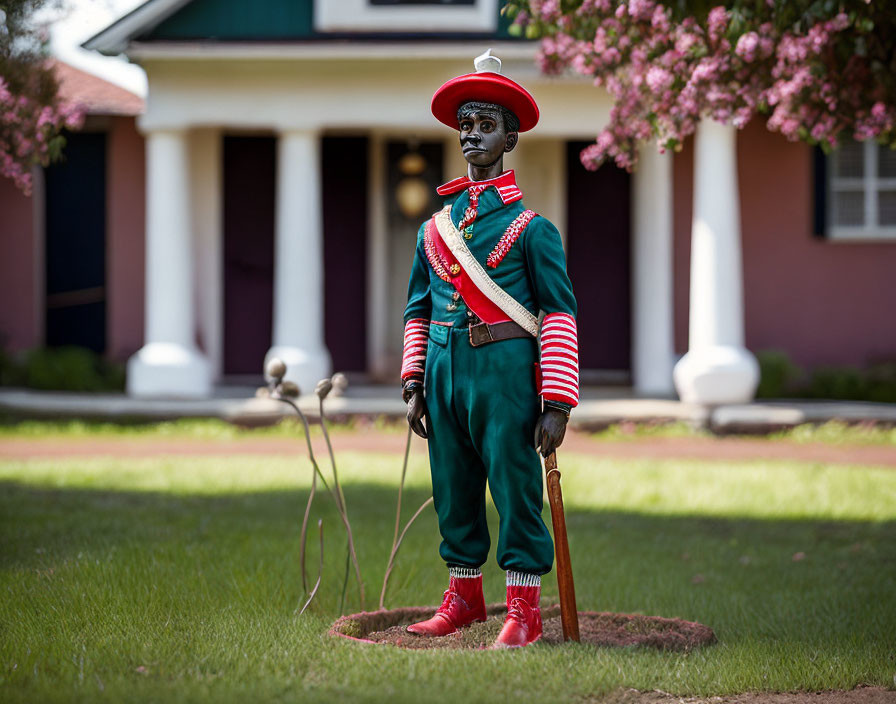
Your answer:
[[[526,209],[503,168],[519,132],[538,122],[538,107],[489,53],[432,99],[433,115],[459,130],[469,166],[438,189],[445,207],[420,228],[404,313],[408,422],[429,439],[439,553],[450,575],[435,616],[408,631],[447,635],[485,620],[487,481],[507,571],[507,618],[495,645],[515,647],[542,632],[541,575],[554,550],[541,518],[538,449],[547,456],[560,445],[578,403],[576,301],[560,234]]]

